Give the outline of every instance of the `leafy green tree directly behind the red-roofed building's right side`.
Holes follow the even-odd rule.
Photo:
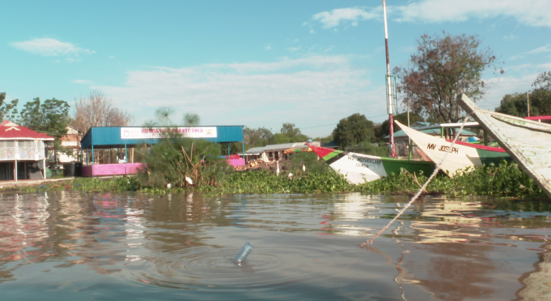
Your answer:
[[[72,122],[69,110],[71,106],[64,100],[52,98],[41,103],[40,98],[36,97],[25,103],[19,114],[19,123],[36,132],[60,138],[67,134],[67,126]],[[55,149],[62,149],[59,140],[55,140],[53,145]]]

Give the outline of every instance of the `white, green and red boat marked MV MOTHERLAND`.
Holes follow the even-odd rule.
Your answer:
[[[434,163],[430,161],[402,160],[356,154],[310,144],[308,146],[351,184],[370,182],[391,173],[398,174],[402,168],[417,174],[420,171],[424,174],[431,174],[434,171]]]

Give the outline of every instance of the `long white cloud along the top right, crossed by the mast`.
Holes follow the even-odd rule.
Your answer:
[[[441,23],[469,19],[514,18],[526,26],[551,26],[548,0],[420,0],[404,6],[387,6],[388,18],[398,22]],[[339,8],[315,14],[325,29],[341,23],[358,25],[360,20],[382,19],[382,6]],[[306,22],[305,22],[306,24]],[[508,37],[514,38],[513,35]]]

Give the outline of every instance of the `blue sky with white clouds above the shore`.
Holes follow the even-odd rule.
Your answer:
[[[388,0],[390,66],[424,34],[477,35],[498,57],[479,106],[551,70],[551,0]],[[0,1],[0,92],[73,106],[99,90],[134,116],[201,125],[294,123],[312,138],[342,118],[387,118],[382,1]],[[399,112],[405,108],[401,105]]]

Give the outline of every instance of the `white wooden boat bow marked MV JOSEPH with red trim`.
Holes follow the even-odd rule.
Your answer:
[[[441,163],[442,171],[450,177],[461,170],[478,168],[483,164],[499,163],[509,160],[510,156],[501,147],[491,147],[462,141],[455,141],[425,134],[395,121],[406,135],[422,150],[435,164]],[[447,155],[446,155],[447,154]],[[442,161],[444,160],[444,161]]]

